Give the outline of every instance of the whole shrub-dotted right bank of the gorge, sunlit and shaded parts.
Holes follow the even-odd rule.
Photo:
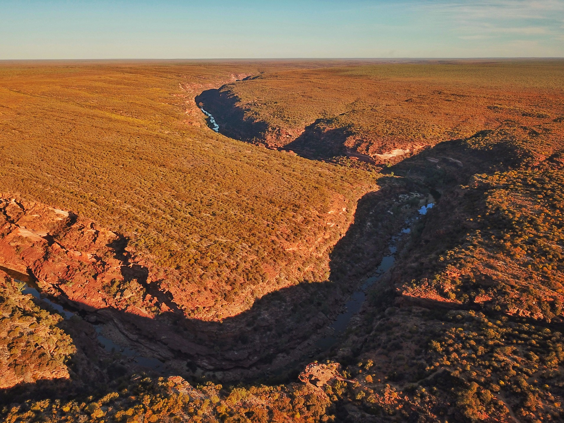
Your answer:
[[[423,173],[442,196],[391,275],[403,307],[374,292],[350,334],[353,351],[365,346],[346,355],[347,372],[367,387],[342,398],[358,412],[562,420],[562,131],[558,120],[505,122],[452,143],[453,160],[429,161],[442,151],[429,149],[394,168]],[[384,389],[395,399],[382,399]]]

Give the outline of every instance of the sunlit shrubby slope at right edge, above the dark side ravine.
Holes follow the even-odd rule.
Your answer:
[[[442,237],[425,235],[433,240],[423,254],[434,250],[437,261],[413,287],[548,321],[562,313],[562,126],[545,129],[531,137],[526,127],[510,125],[468,140],[488,153],[496,143],[509,143],[499,160],[510,170],[474,175],[451,197],[461,222],[455,227],[448,224],[452,218],[443,220]],[[446,233],[460,244],[441,243]]]

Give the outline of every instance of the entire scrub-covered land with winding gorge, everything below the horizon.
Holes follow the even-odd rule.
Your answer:
[[[562,64],[3,63],[3,418],[561,420]]]

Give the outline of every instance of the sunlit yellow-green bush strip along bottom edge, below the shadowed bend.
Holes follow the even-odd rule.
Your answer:
[[[224,388],[208,382],[191,386],[182,378],[152,380],[135,375],[102,397],[40,400],[5,407],[6,422],[268,422],[333,421],[329,401],[315,387],[253,386]]]

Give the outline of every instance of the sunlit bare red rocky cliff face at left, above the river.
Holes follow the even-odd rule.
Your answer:
[[[148,270],[129,263],[116,233],[68,211],[15,198],[0,199],[0,211],[2,265],[32,274],[59,302],[145,317],[167,309],[147,291]]]

